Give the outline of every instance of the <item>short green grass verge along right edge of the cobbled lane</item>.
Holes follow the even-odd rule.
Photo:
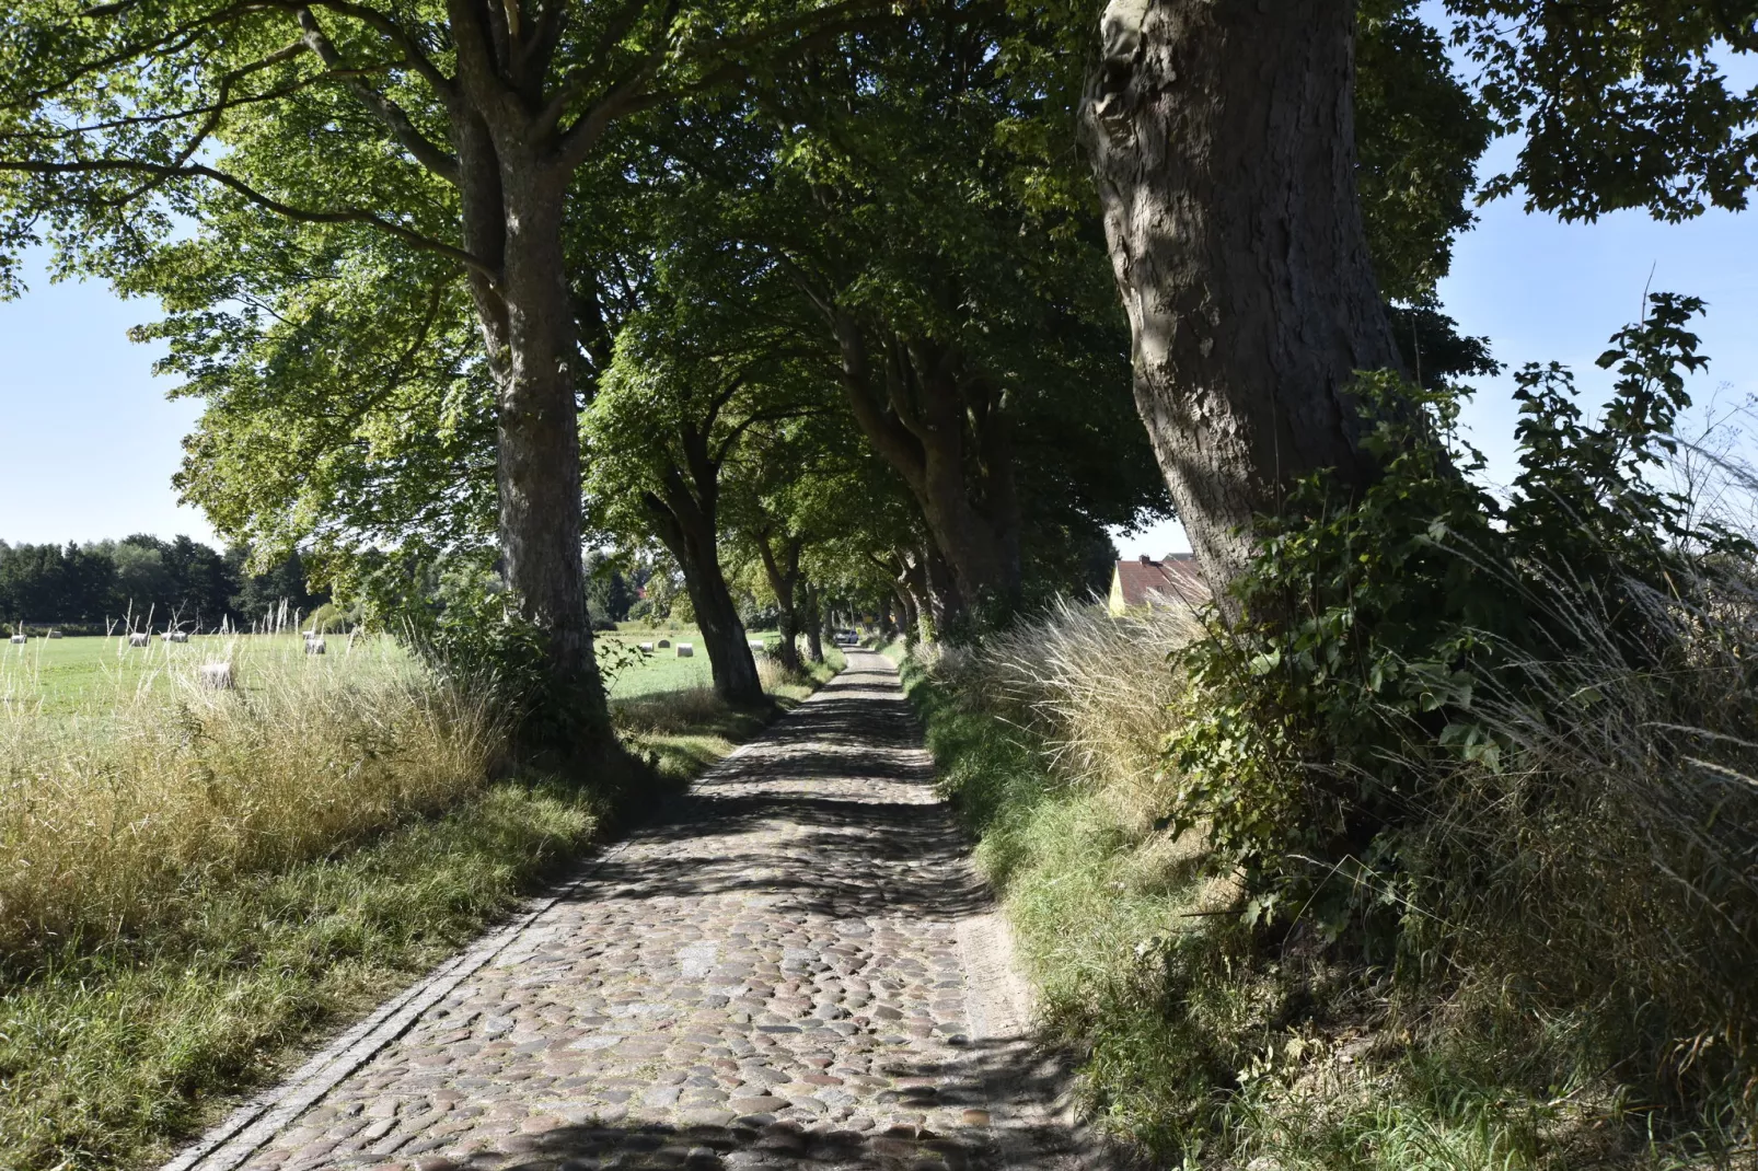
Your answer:
[[[1083,1109],[1151,1166],[1758,1166],[1733,1125],[1667,1131],[1651,1104],[1607,1099],[1603,1069],[1531,1083],[1493,1029],[1426,1022],[1445,1041],[1426,1039],[1384,972],[1313,946],[1266,949],[1236,891],[1199,877],[1201,846],[1155,828],[1159,811],[1141,807],[1151,789],[1058,774],[1055,746],[979,675],[907,659],[905,686],[1013,923],[1039,1023],[1079,1058]],[[1580,1022],[1531,1025],[1561,1048]]]

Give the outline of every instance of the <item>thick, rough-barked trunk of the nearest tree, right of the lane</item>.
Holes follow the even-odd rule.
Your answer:
[[[1217,596],[1290,484],[1377,475],[1348,394],[1398,369],[1355,195],[1354,0],[1113,0],[1083,139],[1136,406]]]

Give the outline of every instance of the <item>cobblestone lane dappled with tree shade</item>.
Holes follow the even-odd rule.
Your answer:
[[[1088,1166],[884,658],[167,1171]]]

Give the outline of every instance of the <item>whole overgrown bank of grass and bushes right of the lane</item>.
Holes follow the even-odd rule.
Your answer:
[[[1667,482],[1693,311],[1617,336],[1591,424],[1519,375],[1507,499],[1443,396],[1369,385],[1385,480],[1304,485],[1229,621],[1062,610],[928,665],[1106,1125],[1259,1171],[1753,1159],[1758,571]]]

